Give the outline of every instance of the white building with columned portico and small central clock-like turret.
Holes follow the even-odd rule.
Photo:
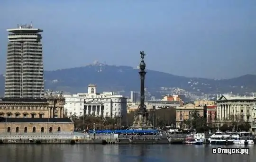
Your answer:
[[[125,117],[127,114],[127,98],[114,95],[113,92],[97,93],[96,85],[88,85],[88,93],[64,95],[65,113],[73,115],[93,115],[102,117]]]

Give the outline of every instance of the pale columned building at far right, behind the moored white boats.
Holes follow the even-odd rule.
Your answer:
[[[219,121],[244,120],[256,127],[256,97],[222,94],[217,99],[217,115]]]

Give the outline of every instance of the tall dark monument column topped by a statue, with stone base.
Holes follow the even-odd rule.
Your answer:
[[[146,64],[144,61],[145,53],[144,51],[140,51],[140,64],[139,64],[139,75],[140,75],[140,104],[138,106],[138,115],[134,120],[134,128],[135,129],[144,129],[150,128],[152,125],[148,120],[148,112],[146,110],[145,105],[145,75],[146,75]]]

